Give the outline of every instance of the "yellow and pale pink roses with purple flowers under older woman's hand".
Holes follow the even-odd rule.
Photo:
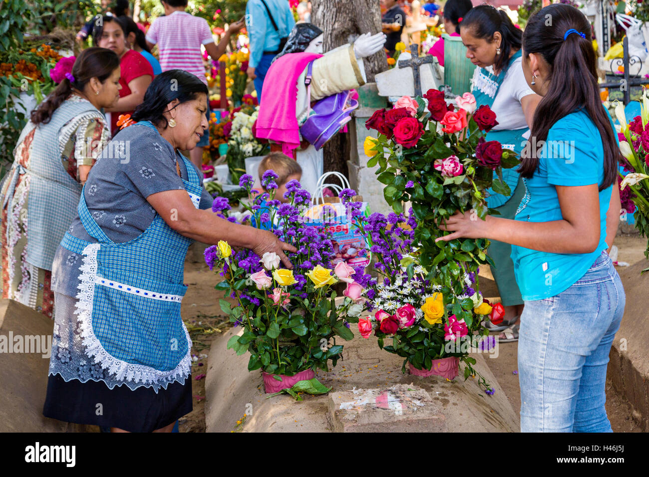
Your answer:
[[[335,254],[326,228],[308,225],[301,215],[310,204],[309,193],[292,180],[286,186],[288,202],[281,203],[274,197],[276,178],[266,171],[262,183],[269,192],[254,199],[250,175],[243,175],[239,185],[249,193],[251,202],[245,208],[250,214],[262,223],[278,223],[276,236],[297,247],[297,253],[288,254],[294,269],[280,267],[275,253],[260,257],[248,249],[233,252],[225,242],[205,251],[210,269],[225,277],[216,288],[236,299],[236,306],[221,300],[221,309],[231,323],[243,326],[243,334],[230,338],[228,349],[250,353],[248,369],[262,369],[269,393],[315,379],[313,370],[327,371],[328,361],[335,366],[343,351],[336,337],[354,337],[349,319],[363,308],[358,303],[363,289],[351,276],[354,270],[344,263],[332,270]],[[217,214],[225,217],[228,209],[227,200],[215,199]],[[339,281],[348,284],[345,299],[336,306],[332,285]]]

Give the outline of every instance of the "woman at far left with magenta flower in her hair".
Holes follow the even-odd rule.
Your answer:
[[[60,83],[31,113],[0,190],[2,297],[50,318],[52,260],[77,212],[81,185],[110,138],[99,109],[119,99],[119,59],[89,48],[73,66],[64,58],[53,71]]]

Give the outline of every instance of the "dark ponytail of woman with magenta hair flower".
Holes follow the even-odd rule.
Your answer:
[[[118,67],[119,57],[114,51],[99,47],[84,49],[72,66],[74,82],[64,78],[47,99],[32,111],[30,116],[32,123],[36,125],[49,123],[56,108],[72,93],[72,88],[82,92],[92,78],[104,82]]]

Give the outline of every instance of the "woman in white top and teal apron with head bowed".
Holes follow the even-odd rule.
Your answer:
[[[467,58],[477,66],[472,86],[476,104],[489,106],[498,121],[498,125],[487,133],[486,140],[498,141],[502,147],[520,154],[529,135],[534,110],[541,100],[530,90],[523,76],[520,29],[502,10],[480,5],[469,10],[463,18],[461,37],[467,47]],[[487,205],[498,210],[499,217],[513,219],[524,197],[525,186],[515,169],[504,169],[502,178],[511,195],[507,197],[490,188]],[[502,326],[489,321],[485,325],[493,331],[505,330],[500,334],[500,341],[515,341],[519,326],[515,323],[522,313],[523,299],[514,277],[511,245],[493,240],[487,253],[496,265],[491,267],[491,273],[505,307],[505,321]]]

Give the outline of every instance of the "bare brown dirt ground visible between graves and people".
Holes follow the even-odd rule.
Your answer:
[[[645,260],[646,244],[647,239],[641,238],[639,234],[618,233],[615,238],[615,245],[619,249],[618,262],[628,262],[633,265],[639,260]],[[210,271],[200,260],[202,250],[199,250],[198,246],[199,244],[192,246],[194,250],[190,249],[185,263],[185,283],[189,285],[189,289],[182,300],[182,317],[193,341],[191,353],[196,357],[191,376],[194,408],[191,413],[180,419],[180,432],[205,432],[205,380],[201,375],[207,367],[207,353],[212,339],[216,334],[230,328],[230,323],[219,307],[219,299],[223,298],[223,293],[214,289],[221,277]],[[485,297],[495,297],[498,293],[488,267],[480,269],[480,277],[480,289]],[[501,343],[498,358],[487,358],[487,364],[518,413],[520,391],[517,375],[517,344]],[[641,432],[641,428],[631,417],[628,402],[617,395],[610,384],[607,384],[606,393],[606,410],[613,432]]]

